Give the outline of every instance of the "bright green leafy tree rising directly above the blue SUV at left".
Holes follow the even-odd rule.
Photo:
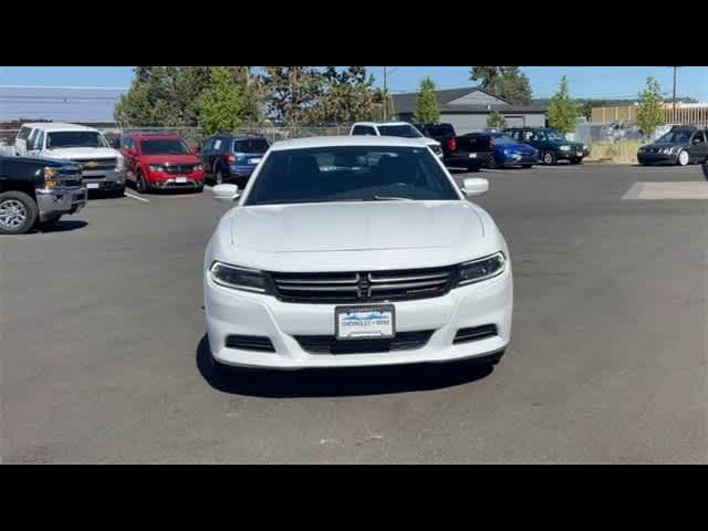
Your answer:
[[[199,98],[199,118],[207,135],[230,133],[241,124],[241,88],[227,66],[211,70],[211,86]]]

